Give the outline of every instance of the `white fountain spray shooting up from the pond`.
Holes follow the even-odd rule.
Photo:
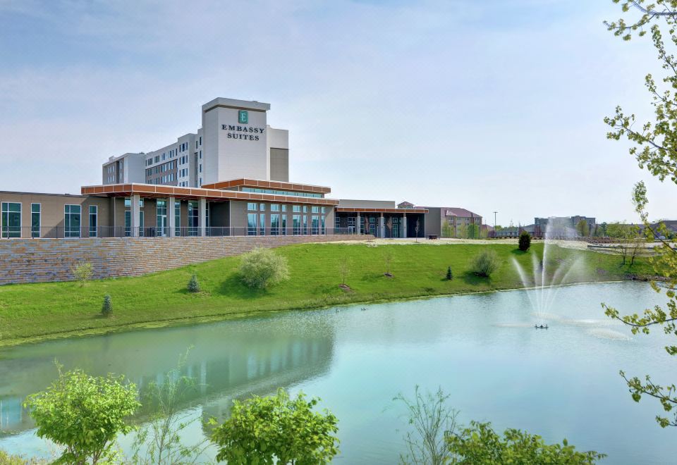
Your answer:
[[[571,262],[556,263],[549,260],[549,252],[554,247],[554,238],[571,240],[577,237],[575,230],[568,225],[548,223],[544,233],[544,245],[542,257],[532,253],[532,276],[513,258],[513,265],[520,275],[522,285],[532,288],[533,292],[527,292],[533,314],[537,318],[534,327],[536,329],[547,329],[547,319],[551,317],[549,309],[559,293],[560,286],[566,284],[567,278],[578,267],[582,257],[578,257]]]

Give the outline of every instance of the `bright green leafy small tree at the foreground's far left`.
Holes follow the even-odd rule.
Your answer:
[[[109,374],[94,378],[82,370],[61,372],[47,390],[30,395],[24,407],[37,425],[39,438],[66,447],[59,463],[97,464],[114,456],[118,434],[133,427],[127,419],[138,407],[133,383]]]

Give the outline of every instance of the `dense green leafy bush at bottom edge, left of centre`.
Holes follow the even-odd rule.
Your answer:
[[[324,464],[338,454],[336,416],[314,411],[319,399],[270,397],[233,401],[231,417],[214,430],[217,461],[228,464]]]

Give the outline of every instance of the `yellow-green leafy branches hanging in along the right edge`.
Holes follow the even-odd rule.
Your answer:
[[[647,169],[661,181],[669,179],[677,184],[677,58],[671,51],[677,46],[677,1],[653,0],[650,4],[645,0],[613,1],[621,3],[623,15],[631,18],[606,23],[609,30],[624,40],[630,40],[633,35],[642,37],[650,32],[663,75],[658,82],[651,74],[645,77],[645,87],[654,108],[653,120],[637,127],[635,114],[628,115],[621,106],[617,106],[614,116],[604,119],[611,128],[607,137],[611,140],[626,138],[631,143],[630,154],[635,156],[640,168]],[[632,6],[637,8],[631,9]],[[633,13],[638,14],[633,16]],[[606,304],[602,306],[607,316],[630,325],[634,334],[649,334],[653,325],[659,325],[664,333],[677,337],[677,251],[661,238],[667,236],[664,225],[654,229],[649,224],[647,190],[643,182],[635,185],[633,202],[649,240],[661,241],[661,247],[654,249],[657,254],[651,261],[654,273],[664,282],[661,285],[652,283],[652,287],[656,292],[664,292],[668,301],[665,306],[646,309],[642,316],[620,316],[613,307]],[[665,349],[670,355],[677,354],[676,345],[668,345]],[[664,411],[664,414],[656,417],[661,427],[677,426],[677,389],[674,384],[659,385],[650,376],[642,380],[638,376],[628,377],[623,371],[621,376],[628,383],[635,402],[640,402],[643,396],[658,400]]]

